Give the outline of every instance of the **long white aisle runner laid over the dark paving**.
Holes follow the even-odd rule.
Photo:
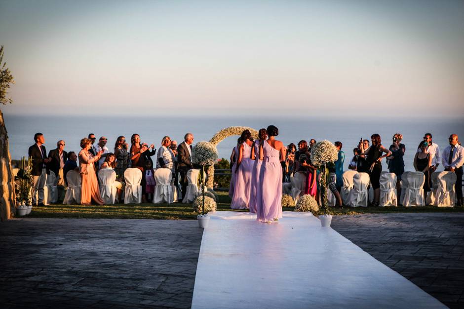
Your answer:
[[[192,308],[446,308],[311,214],[255,219],[211,215]]]

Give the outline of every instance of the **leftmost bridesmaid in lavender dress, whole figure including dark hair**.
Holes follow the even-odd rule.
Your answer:
[[[238,159],[235,164],[235,188],[232,195],[232,209],[248,209],[251,193],[251,170],[253,160],[251,159],[251,146],[253,137],[250,130],[244,130],[241,138],[243,143],[238,146]]]

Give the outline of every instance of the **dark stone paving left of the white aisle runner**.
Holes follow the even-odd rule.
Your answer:
[[[17,219],[0,224],[1,308],[190,308],[196,221]]]

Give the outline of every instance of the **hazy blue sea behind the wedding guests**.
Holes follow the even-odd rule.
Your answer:
[[[306,117],[306,116],[191,116],[191,117],[159,117],[159,116],[28,116],[5,115],[5,125],[9,137],[9,150],[12,159],[27,156],[28,149],[34,144],[34,134],[41,132],[45,137],[47,152],[56,148],[58,140],[66,142],[65,150],[79,152],[81,138],[94,133],[98,138],[108,138],[107,147],[112,151],[119,135],[126,137],[127,141],[133,133],[141,137],[141,141],[154,144],[159,148],[163,136],[169,136],[178,144],[183,141],[187,132],[192,132],[194,144],[199,141],[208,141],[223,128],[230,126],[249,126],[256,130],[266,128],[273,124],[279,128],[276,137],[285,145],[300,140],[309,142],[311,138],[316,141],[329,140],[343,143],[345,152],[344,169],[348,169],[349,161],[353,156],[353,148],[358,145],[359,139],[369,139],[374,133],[382,137],[385,147],[391,145],[393,134],[403,135],[402,143],[406,146],[404,155],[405,170],[414,170],[413,160],[419,143],[426,132],[433,136],[442,152],[449,145],[450,134],[458,134],[464,139],[463,119],[413,119],[403,118],[376,118],[363,117]],[[229,159],[238,136],[231,136],[219,145],[219,157]],[[129,142],[130,143],[130,142]],[[383,169],[387,163],[383,161]],[[439,170],[442,170],[440,164]]]

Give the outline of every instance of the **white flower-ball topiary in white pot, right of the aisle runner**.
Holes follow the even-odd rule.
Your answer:
[[[311,162],[321,171],[320,196],[321,207],[324,214],[319,216],[319,220],[322,227],[330,227],[330,223],[332,222],[332,215],[330,214],[329,205],[327,203],[327,164],[332,164],[337,161],[337,159],[337,148],[327,140],[320,141],[311,148]]]

